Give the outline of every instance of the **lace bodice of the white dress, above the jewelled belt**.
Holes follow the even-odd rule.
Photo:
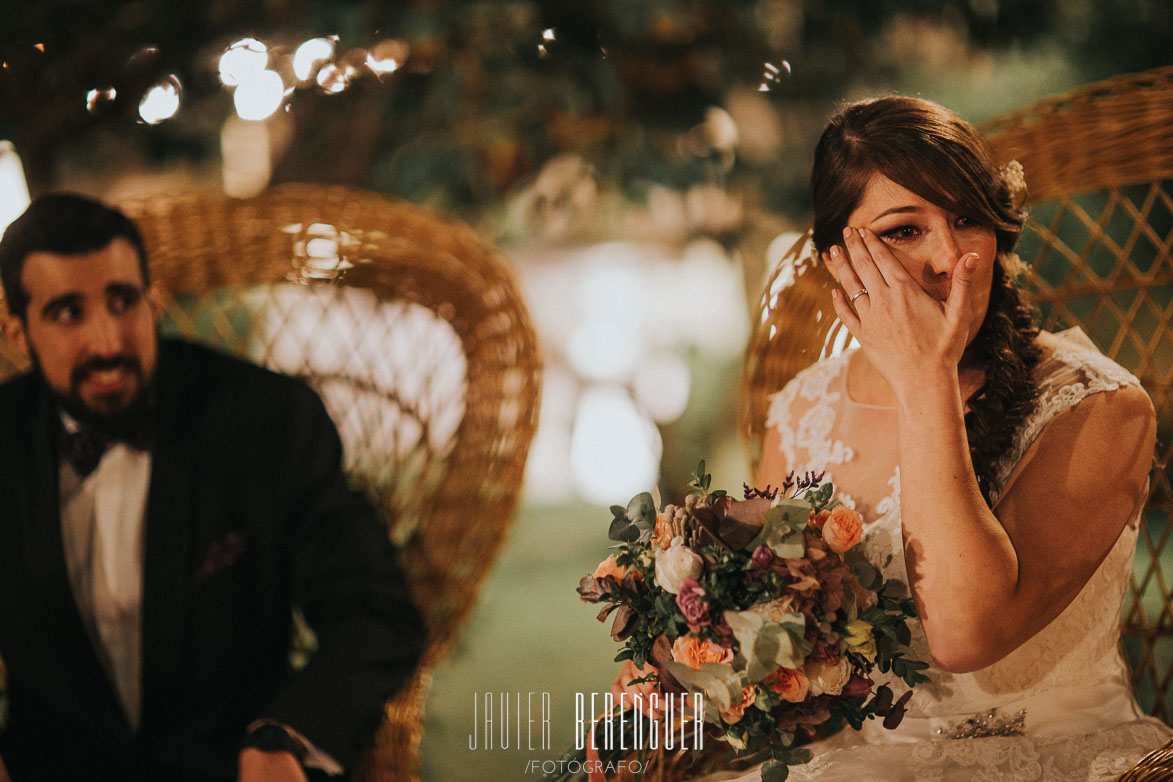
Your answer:
[[[1057,335],[1055,345],[1037,368],[1042,390],[1037,408],[998,464],[996,498],[1006,490],[1008,480],[1016,476],[1015,468],[1031,443],[1057,415],[1092,394],[1139,385],[1097,352],[1082,332]],[[866,519],[875,519],[865,531],[865,551],[886,578],[903,583],[896,413],[894,408],[850,399],[845,380],[849,359],[850,352],[800,373],[772,397],[768,426],[777,427],[779,448],[788,465],[799,471],[826,470],[827,480],[835,483],[845,502]],[[861,454],[868,454],[868,458]],[[1058,718],[1053,703],[1035,702],[1056,692],[1077,700],[1078,693],[1097,693],[1096,700],[1086,703],[1092,714],[1072,716],[1084,725],[1099,715],[1121,719],[1119,713],[1104,714],[1105,699],[1116,699],[1117,712],[1133,715],[1127,673],[1118,653],[1118,626],[1135,536],[1132,519],[1074,600],[1003,660],[969,674],[930,669],[930,682],[917,689],[909,705],[909,730],[944,735],[979,712],[998,709],[1005,716],[1025,709],[1029,732],[1063,732],[1071,720]],[[930,659],[918,624],[913,645],[921,659]],[[1070,713],[1078,706],[1067,701],[1064,709]],[[889,740],[884,733],[874,737]]]

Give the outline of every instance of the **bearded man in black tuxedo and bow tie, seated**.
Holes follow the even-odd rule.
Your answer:
[[[0,280],[33,362],[0,385],[0,780],[341,778],[423,628],[321,401],[160,340],[138,231],[97,202],[35,200]]]

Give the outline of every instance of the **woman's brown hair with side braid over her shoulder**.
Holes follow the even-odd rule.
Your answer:
[[[992,499],[999,461],[1038,400],[1033,369],[1038,327],[1006,265],[1025,212],[1022,170],[999,171],[977,132],[930,101],[883,97],[845,107],[815,148],[811,172],[813,239],[823,252],[842,230],[870,178],[883,175],[920,197],[994,229],[998,259],[985,319],[971,344],[984,382],[969,399],[965,435],[978,488]]]

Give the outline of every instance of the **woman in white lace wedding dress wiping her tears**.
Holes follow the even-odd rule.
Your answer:
[[[827,470],[933,667],[896,730],[818,742],[791,780],[1111,780],[1171,735],[1118,644],[1153,408],[1082,332],[1031,324],[1021,177],[917,98],[849,106],[819,141],[814,245],[861,348],[772,397],[759,485]]]

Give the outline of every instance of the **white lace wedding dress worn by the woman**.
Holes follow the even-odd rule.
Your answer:
[[[1042,397],[1001,464],[999,492],[1008,490],[1019,472],[1016,468],[1038,456],[1031,443],[1052,419],[1074,413],[1072,408],[1092,394],[1138,385],[1082,332],[1047,338],[1052,349],[1037,370]],[[884,578],[907,583],[891,442],[896,412],[850,399],[849,359],[850,352],[800,373],[772,399],[768,426],[777,427],[788,465],[827,470],[827,480],[849,492],[841,495],[845,502],[866,519],[876,519],[865,530],[866,553]],[[859,733],[848,729],[818,742],[811,747],[814,759],[792,767],[789,778],[1112,780],[1159,747],[1171,730],[1137,707],[1118,645],[1138,522],[1139,511],[1074,600],[1015,652],[974,673],[930,668],[930,681],[916,688],[897,729],[869,720]],[[913,651],[928,661],[920,623],[913,626]],[[906,689],[900,681],[890,684],[897,696]],[[708,778],[759,777],[752,770]]]

